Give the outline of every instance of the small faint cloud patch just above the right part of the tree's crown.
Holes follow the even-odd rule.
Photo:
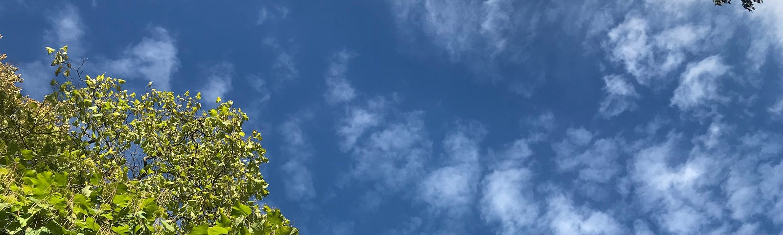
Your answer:
[[[222,62],[207,68],[207,84],[201,89],[202,98],[214,102],[218,97],[226,98],[226,93],[231,91],[231,79],[234,73],[234,65]]]

